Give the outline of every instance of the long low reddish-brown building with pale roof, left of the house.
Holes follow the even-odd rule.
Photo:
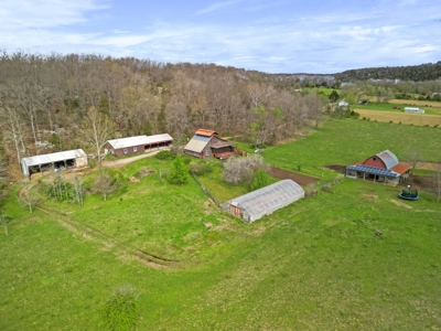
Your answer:
[[[169,134],[154,136],[136,136],[108,140],[104,148],[105,152],[110,152],[115,157],[144,152],[152,148],[171,146],[173,138]]]

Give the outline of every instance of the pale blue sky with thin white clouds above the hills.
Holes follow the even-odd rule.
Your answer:
[[[440,0],[1,0],[0,49],[337,73],[441,61]]]

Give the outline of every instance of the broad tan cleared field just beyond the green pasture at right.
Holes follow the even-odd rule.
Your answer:
[[[435,125],[441,126],[441,116],[439,115],[428,115],[428,114],[407,114],[407,113],[395,113],[395,111],[376,111],[366,109],[354,109],[361,116],[361,118],[366,117],[370,120],[377,121],[392,121],[395,124],[415,125],[415,126],[430,126]]]

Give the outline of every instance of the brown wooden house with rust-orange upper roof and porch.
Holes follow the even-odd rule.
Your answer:
[[[217,137],[216,131],[198,129],[184,147],[184,153],[200,159],[206,157],[227,159],[235,156],[236,150],[229,141]]]

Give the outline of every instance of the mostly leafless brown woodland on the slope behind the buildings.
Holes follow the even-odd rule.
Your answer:
[[[197,128],[275,143],[320,120],[323,100],[272,79],[215,64],[161,63],[96,54],[0,54],[1,153],[6,160],[84,148],[90,109],[108,118],[109,138]]]

